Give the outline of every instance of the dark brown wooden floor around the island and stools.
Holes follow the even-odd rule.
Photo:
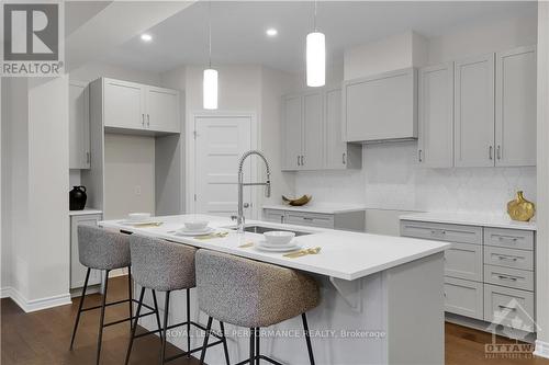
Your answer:
[[[125,277],[116,277],[109,282],[109,300],[123,299],[126,294]],[[90,306],[100,303],[99,295],[88,296]],[[88,300],[88,299],[87,299]],[[97,329],[99,313],[86,312],[80,320],[75,349],[68,350],[74,319],[78,309],[78,300],[71,306],[41,310],[33,313],[23,312],[11,299],[1,300],[1,364],[2,365],[38,365],[38,364],[94,364]],[[127,316],[127,305],[113,306],[108,309],[107,321]],[[123,364],[127,345],[130,324],[112,326],[103,334],[101,364]],[[498,338],[497,343],[511,342]],[[456,324],[446,324],[446,364],[448,365],[549,365],[549,360],[535,358],[531,354],[516,356],[498,356],[486,358],[484,345],[492,343],[489,333],[471,330]],[[132,352],[131,364],[157,364],[160,342],[156,337],[136,340]],[[170,346],[168,355],[178,350]],[[173,365],[193,365],[197,360],[179,358],[170,362]],[[341,364],[344,365],[344,364]]]

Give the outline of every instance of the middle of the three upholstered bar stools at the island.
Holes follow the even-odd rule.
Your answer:
[[[202,350],[202,346],[191,350],[191,338],[190,329],[194,326],[203,331],[206,330],[205,327],[191,321],[190,316],[190,289],[195,287],[195,273],[194,273],[194,253],[197,249],[190,246],[181,243],[172,243],[166,240],[132,235],[130,237],[130,251],[132,258],[132,266],[134,281],[142,287],[139,294],[139,300],[137,305],[136,317],[132,326],[132,335],[130,338],[130,343],[126,352],[125,364],[130,361],[130,355],[132,352],[132,346],[134,339],[159,331],[148,331],[144,333],[135,334],[137,328],[137,319],[143,306],[143,296],[145,289],[166,292],[166,301],[164,309],[164,326],[161,330],[160,339],[163,341],[160,351],[160,364],[179,358],[181,356],[189,356],[192,353]],[[168,326],[168,310],[170,293],[172,290],[187,290],[187,320],[181,323]],[[180,354],[166,357],[166,342],[167,342],[167,331],[169,329],[186,326],[187,327],[187,351]],[[211,323],[210,323],[211,327]],[[225,329],[223,322],[220,321],[221,335],[214,334],[219,341],[209,344],[209,346],[214,346],[217,344],[223,344],[225,350],[225,358],[228,365],[228,351],[227,343],[225,339]]]

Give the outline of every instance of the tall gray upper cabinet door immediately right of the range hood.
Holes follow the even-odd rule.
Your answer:
[[[419,163],[453,167],[453,62],[419,70],[418,103]]]

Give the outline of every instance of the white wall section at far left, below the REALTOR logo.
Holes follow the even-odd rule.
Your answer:
[[[4,81],[2,260],[10,273],[2,286],[25,309],[43,298],[67,303],[68,144],[59,140],[68,140],[68,78]]]

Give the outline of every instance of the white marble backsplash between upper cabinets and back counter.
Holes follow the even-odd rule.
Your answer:
[[[517,190],[536,202],[536,168],[427,169],[417,144],[362,147],[362,169],[309,171],[295,175],[295,194],[317,202],[365,204],[368,208],[505,213]]]

